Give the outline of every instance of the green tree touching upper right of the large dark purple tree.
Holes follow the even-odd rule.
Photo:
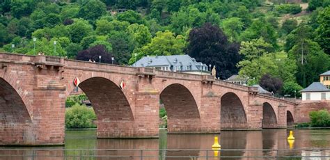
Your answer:
[[[237,42],[239,33],[243,30],[243,22],[237,17],[224,19],[222,22],[223,31],[228,36],[230,42]]]

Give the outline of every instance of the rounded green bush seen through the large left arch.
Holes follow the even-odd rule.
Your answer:
[[[96,120],[94,110],[85,105],[74,104],[65,111],[65,127],[67,129],[96,128],[93,120]]]

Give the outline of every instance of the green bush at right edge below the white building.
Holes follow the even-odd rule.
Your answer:
[[[330,127],[330,113],[327,109],[311,111],[309,118],[311,118],[311,127]]]

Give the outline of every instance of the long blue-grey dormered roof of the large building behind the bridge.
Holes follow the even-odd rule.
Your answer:
[[[207,70],[207,65],[196,62],[195,58],[191,58],[187,54],[172,55],[172,56],[145,56],[139,61],[136,61],[133,67],[157,67],[157,66],[182,66],[182,71],[186,66],[191,66],[191,70],[201,70],[201,65]]]

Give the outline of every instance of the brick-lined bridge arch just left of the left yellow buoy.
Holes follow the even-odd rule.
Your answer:
[[[168,133],[194,133],[201,129],[201,115],[194,96],[179,83],[166,86],[160,93],[167,112]]]

